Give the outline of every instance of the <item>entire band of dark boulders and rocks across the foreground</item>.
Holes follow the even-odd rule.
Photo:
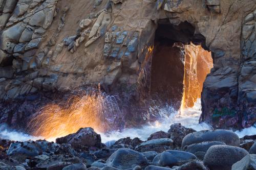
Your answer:
[[[256,136],[228,130],[196,132],[173,124],[146,141],[122,138],[102,143],[92,128],[55,142],[0,140],[0,169],[47,170],[240,170],[256,168]]]

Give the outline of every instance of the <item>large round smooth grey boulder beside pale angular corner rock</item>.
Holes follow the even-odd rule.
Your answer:
[[[211,170],[229,170],[249,153],[242,148],[229,145],[213,145],[205,154],[204,164]]]

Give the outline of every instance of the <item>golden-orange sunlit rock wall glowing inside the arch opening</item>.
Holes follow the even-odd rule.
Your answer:
[[[211,53],[205,51],[201,45],[185,45],[185,73],[184,90],[181,113],[185,108],[193,107],[201,98],[203,82],[213,67]]]

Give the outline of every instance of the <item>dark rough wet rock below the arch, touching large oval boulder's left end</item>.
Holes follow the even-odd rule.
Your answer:
[[[189,133],[196,132],[194,129],[186,128],[181,124],[173,124],[170,126],[168,133],[170,134],[170,138],[174,141],[175,148],[181,147],[182,139]]]

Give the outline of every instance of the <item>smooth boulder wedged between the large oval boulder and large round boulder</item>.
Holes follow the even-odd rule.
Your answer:
[[[212,145],[218,145],[218,144],[223,144],[226,145],[223,142],[219,141],[210,141],[210,142],[201,142],[201,143],[195,143],[195,144],[190,144],[187,147],[184,147],[183,149],[186,152],[195,154],[197,158],[203,160],[204,155],[206,154],[207,150],[212,146]]]

